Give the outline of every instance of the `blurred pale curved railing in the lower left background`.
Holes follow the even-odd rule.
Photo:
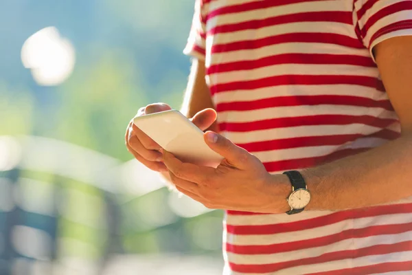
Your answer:
[[[0,136],[0,274],[117,274],[119,262],[133,274],[185,274],[196,261],[201,269],[187,274],[218,274],[220,261],[203,266],[199,258],[179,273],[137,265],[163,259],[172,269],[170,252],[220,253],[220,212],[164,187],[135,160],[45,137]]]

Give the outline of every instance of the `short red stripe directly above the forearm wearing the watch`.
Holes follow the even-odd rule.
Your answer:
[[[341,159],[343,157],[348,157],[350,155],[356,155],[358,153],[365,152],[370,148],[358,148],[358,149],[343,149],[340,151],[336,151],[329,155],[323,155],[320,157],[306,157],[300,159],[285,159],[279,160],[277,162],[265,162],[264,167],[270,173],[275,173],[277,171],[284,171],[284,170],[295,170],[295,169],[303,169],[303,168],[310,168],[314,166],[318,166],[321,164],[325,164],[328,162],[333,162],[336,159]]]

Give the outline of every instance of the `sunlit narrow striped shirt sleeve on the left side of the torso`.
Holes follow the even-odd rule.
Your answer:
[[[192,28],[183,53],[205,61],[206,24],[203,11],[203,0],[195,0]]]

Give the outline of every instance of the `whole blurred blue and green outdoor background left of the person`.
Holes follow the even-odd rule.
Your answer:
[[[194,0],[0,1],[0,274],[221,274],[222,212],[124,146],[179,109]]]

